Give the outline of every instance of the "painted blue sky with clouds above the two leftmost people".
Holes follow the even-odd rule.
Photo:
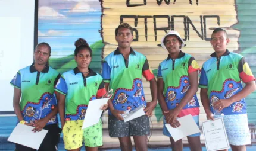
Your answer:
[[[39,0],[38,43],[52,47],[52,57],[74,53],[74,41],[101,40],[101,3],[98,0]]]

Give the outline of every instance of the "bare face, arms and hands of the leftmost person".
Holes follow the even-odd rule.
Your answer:
[[[41,72],[48,62],[50,57],[50,50],[45,45],[40,45],[36,47],[34,52],[34,66],[36,70]],[[17,115],[19,121],[23,120],[23,116],[20,109],[20,97],[21,97],[21,90],[18,88],[14,88],[14,96],[13,96],[13,108],[14,112]],[[34,123],[25,123],[27,126],[33,126],[33,132],[42,131],[43,127],[46,126],[49,120],[54,117],[58,113],[58,107],[55,107],[51,113],[49,113],[45,118],[35,120]]]

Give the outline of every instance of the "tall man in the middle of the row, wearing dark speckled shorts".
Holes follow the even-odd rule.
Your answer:
[[[121,150],[132,150],[130,136],[135,140],[136,150],[148,150],[147,135],[150,132],[149,118],[157,105],[157,83],[148,60],[143,54],[130,47],[133,30],[127,23],[122,23],[115,30],[118,48],[105,57],[102,63],[102,77],[105,88],[113,89],[109,101],[108,130],[111,137],[118,137]],[[142,75],[150,82],[152,102],[146,103],[142,85]],[[126,110],[143,106],[146,115],[133,120],[123,121],[120,115]]]

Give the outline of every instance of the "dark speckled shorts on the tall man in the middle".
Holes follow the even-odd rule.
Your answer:
[[[124,122],[114,115],[108,115],[110,137],[145,136],[150,133],[149,118],[146,115]]]

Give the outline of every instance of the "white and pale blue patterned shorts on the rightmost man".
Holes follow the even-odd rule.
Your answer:
[[[223,121],[229,144],[233,146],[251,144],[247,114],[224,115]]]

